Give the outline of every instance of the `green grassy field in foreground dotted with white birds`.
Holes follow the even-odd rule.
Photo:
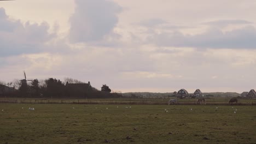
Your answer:
[[[0,143],[256,143],[256,106],[0,104],[0,119]]]

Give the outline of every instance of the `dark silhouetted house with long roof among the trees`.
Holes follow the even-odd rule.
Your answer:
[[[88,83],[66,83],[66,95],[69,98],[87,98],[91,90],[90,81]]]

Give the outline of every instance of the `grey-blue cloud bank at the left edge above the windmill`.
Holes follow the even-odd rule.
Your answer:
[[[5,10],[0,8],[0,57],[42,51],[44,43],[55,37],[48,30],[46,22],[22,25],[19,20],[10,20]]]

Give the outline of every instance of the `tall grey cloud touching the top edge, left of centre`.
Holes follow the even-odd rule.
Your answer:
[[[121,7],[111,1],[76,0],[70,17],[69,37],[72,43],[102,40],[117,25]]]

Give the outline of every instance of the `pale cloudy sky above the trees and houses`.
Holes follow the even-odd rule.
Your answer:
[[[256,89],[256,1],[0,1],[0,80],[115,92]]]

